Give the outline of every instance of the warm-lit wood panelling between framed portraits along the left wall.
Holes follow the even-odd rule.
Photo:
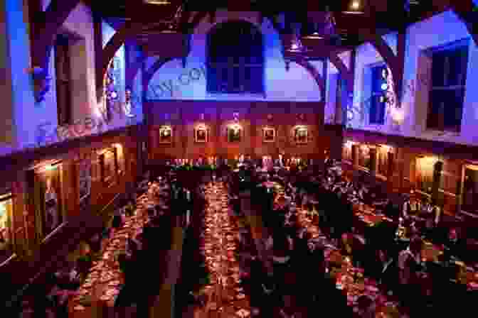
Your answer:
[[[83,218],[86,213],[91,214],[110,214],[110,210],[105,207],[113,206],[112,201],[117,194],[125,193],[132,190],[132,185],[137,177],[137,136],[134,133],[122,133],[114,137],[105,138],[102,145],[95,143],[94,148],[70,148],[67,153],[59,156],[60,163],[60,180],[62,188],[62,204],[64,205],[65,218],[64,221],[70,222],[78,218]],[[110,187],[105,187],[104,182],[100,180],[100,163],[98,153],[104,148],[110,147],[112,144],[121,145],[119,151],[119,169],[121,174],[116,176],[115,182]],[[91,209],[90,211],[80,211],[80,194],[79,194],[79,165],[81,160],[90,160],[92,163],[92,182],[91,182]],[[42,165],[51,163],[51,160],[38,161],[35,168],[41,168]],[[53,234],[48,241],[38,241],[36,239],[36,223],[41,220],[36,219],[34,207],[31,206],[31,186],[28,180],[28,172],[32,167],[25,167],[18,170],[17,180],[8,182],[4,187],[11,189],[13,202],[13,217],[11,220],[12,231],[14,236],[16,253],[15,264],[35,258],[35,255],[41,253],[45,255],[51,253],[56,255],[58,251],[49,251],[52,246],[57,246],[55,242],[56,235]],[[31,181],[31,180],[30,180]],[[105,215],[105,219],[109,215]],[[83,218],[84,219],[84,218]],[[84,224],[83,226],[87,226]],[[53,232],[55,233],[55,232]],[[70,242],[69,242],[70,243]],[[61,244],[60,244],[61,246]],[[73,247],[74,248],[74,247]],[[17,266],[17,265],[15,265]],[[13,270],[9,264],[0,266],[0,272]],[[26,274],[25,274],[26,275]]]

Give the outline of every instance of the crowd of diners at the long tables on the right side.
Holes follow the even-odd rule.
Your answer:
[[[311,285],[311,276],[322,276],[321,271],[331,275],[359,317],[450,312],[471,305],[476,296],[472,239],[460,238],[457,226],[447,227],[431,202],[422,204],[413,196],[402,202],[388,199],[378,187],[344,180],[337,164],[319,173],[282,168],[263,172],[243,166],[238,180],[263,181],[257,202],[270,229],[266,248],[274,255],[275,283],[282,281],[286,294],[293,288],[284,283],[283,273],[295,272],[297,281],[298,272],[304,272],[300,266],[314,264],[316,269],[305,270],[307,277],[299,288]],[[294,258],[306,257],[300,253],[313,253],[315,261],[294,267]],[[305,300],[314,292],[307,294],[295,299]],[[443,301],[450,298],[455,306]],[[294,310],[297,306],[289,316]]]

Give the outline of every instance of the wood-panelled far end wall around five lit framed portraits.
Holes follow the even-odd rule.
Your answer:
[[[322,158],[330,147],[330,138],[324,131],[324,104],[313,102],[210,102],[170,101],[149,102],[149,159],[198,158],[220,156],[233,159],[240,154],[260,157],[277,156],[280,152],[302,158]],[[226,128],[235,123],[243,127],[239,143],[227,141]],[[194,128],[206,124],[208,143],[194,141]],[[159,143],[159,128],[173,129],[173,142]],[[294,143],[292,130],[296,125],[307,125],[309,141]],[[262,141],[262,128],[275,128],[273,143]]]

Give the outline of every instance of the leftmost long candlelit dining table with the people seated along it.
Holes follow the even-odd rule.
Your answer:
[[[129,317],[126,308],[148,299],[145,282],[156,281],[154,264],[164,263],[155,261],[152,256],[158,253],[152,250],[168,249],[156,241],[169,241],[169,183],[147,181],[136,197],[115,210],[101,234],[80,244],[69,267],[48,275],[42,287],[45,299],[37,292],[27,298],[21,317],[113,317],[113,312]]]

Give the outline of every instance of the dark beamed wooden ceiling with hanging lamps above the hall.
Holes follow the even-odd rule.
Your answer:
[[[260,11],[262,16],[274,21],[280,33],[298,32],[302,40],[300,54],[314,58],[320,57],[319,53],[323,54],[324,50],[340,52],[354,48],[368,40],[366,35],[371,31],[385,34],[403,30],[409,23],[443,11],[448,5],[447,0],[294,0],[293,4],[284,1],[275,3],[273,7],[270,1],[265,0],[117,0],[114,4],[107,1],[89,2],[92,10],[115,28],[127,21],[143,23],[135,38],[144,49],[152,50],[146,52],[147,55],[156,54],[155,46],[151,43],[160,42],[159,34],[166,38],[162,35],[165,30],[181,33],[190,30],[191,24],[198,23],[200,18],[209,16],[213,21],[216,10],[228,9]],[[319,34],[323,33],[326,23],[326,10],[332,13],[333,35]],[[357,12],[361,14],[356,14]]]

